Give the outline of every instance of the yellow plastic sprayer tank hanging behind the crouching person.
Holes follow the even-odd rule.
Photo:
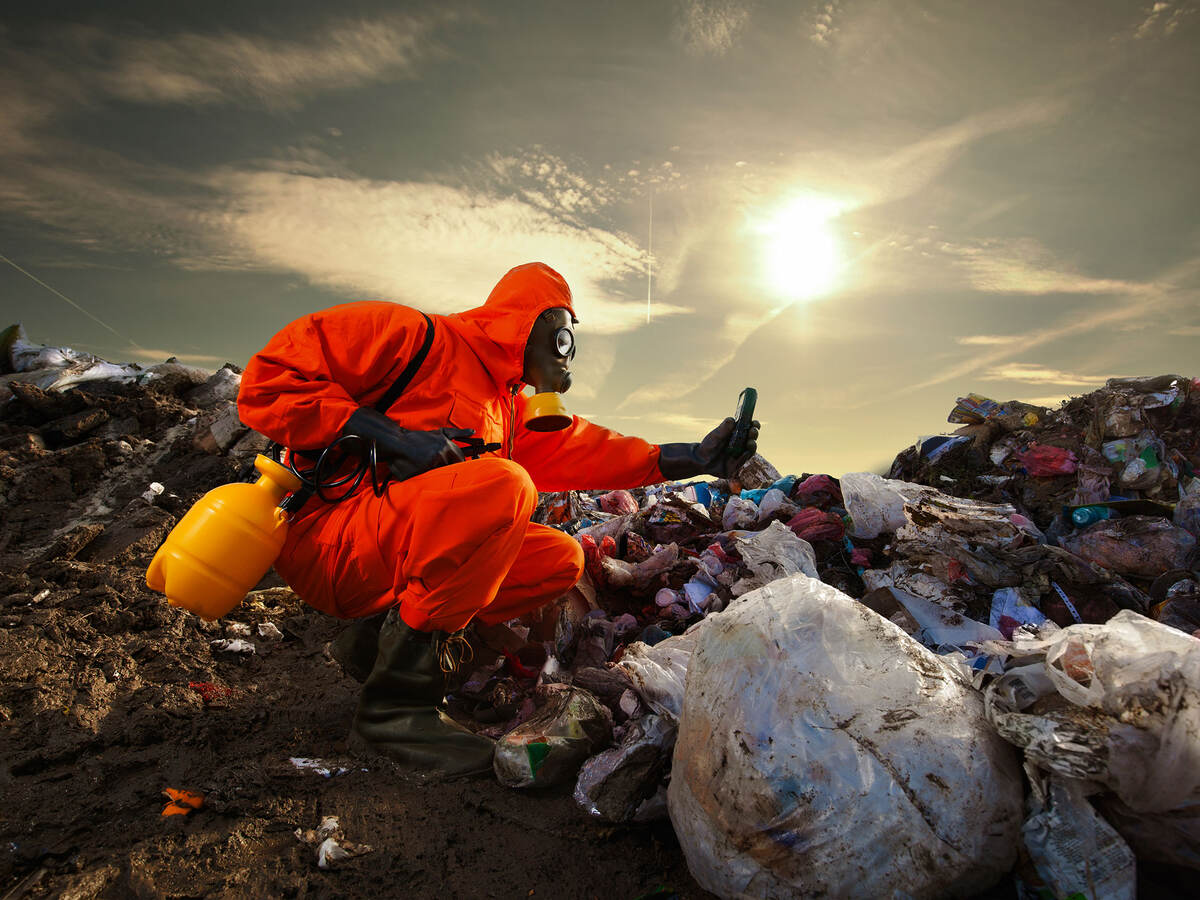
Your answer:
[[[266,575],[288,536],[280,502],[300,479],[262,454],[254,484],[222,485],[187,510],[158,547],[146,584],[205,619],[218,619]]]

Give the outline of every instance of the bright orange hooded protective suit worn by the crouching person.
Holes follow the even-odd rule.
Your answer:
[[[580,545],[529,521],[538,491],[661,481],[659,448],[578,416],[557,432],[521,426],[526,342],[545,310],[571,293],[547,265],[509,271],[484,306],[431,316],[430,354],[388,416],[409,430],[470,428],[502,449],[479,460],[370,487],[292,522],[276,570],[311,606],[358,618],[400,605],[420,631],[473,617],[505,622],[564,594],[583,569]],[[350,414],[378,401],[425,337],[416,310],[335,306],[293,322],[251,359],[241,420],[293,450],[332,443]]]

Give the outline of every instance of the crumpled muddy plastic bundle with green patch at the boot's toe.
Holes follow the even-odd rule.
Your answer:
[[[586,690],[560,688],[532,719],[496,742],[492,768],[509,787],[558,785],[611,739],[608,708]]]

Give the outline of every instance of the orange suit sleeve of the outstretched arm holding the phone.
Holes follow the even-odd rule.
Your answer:
[[[518,400],[520,422],[524,397]],[[618,434],[577,415],[562,431],[516,428],[512,458],[539,491],[641,487],[664,480],[658,444]]]

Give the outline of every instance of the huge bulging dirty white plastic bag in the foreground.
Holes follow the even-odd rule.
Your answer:
[[[946,896],[1009,870],[1020,770],[955,667],[803,575],[704,625],[667,794],[702,887]]]

